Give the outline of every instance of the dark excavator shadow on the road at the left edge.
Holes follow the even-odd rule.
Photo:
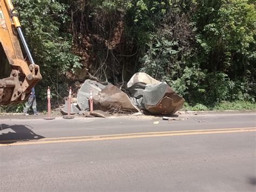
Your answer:
[[[31,129],[33,127],[24,125],[0,124],[0,143],[8,144],[17,142],[16,140],[29,141],[44,138],[44,136],[34,133]]]

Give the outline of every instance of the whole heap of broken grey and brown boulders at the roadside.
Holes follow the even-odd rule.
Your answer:
[[[71,114],[89,114],[90,92],[93,97],[93,112],[137,113],[140,110],[154,115],[172,115],[184,105],[180,97],[165,82],[160,82],[146,73],[136,73],[127,83],[125,93],[118,87],[102,85],[96,81],[86,80],[77,93],[76,102],[71,104]],[[62,109],[68,111],[68,102]]]

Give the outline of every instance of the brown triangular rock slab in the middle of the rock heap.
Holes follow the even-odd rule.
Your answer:
[[[102,111],[118,109],[120,112],[139,112],[138,107],[132,103],[128,95],[112,84],[107,85],[93,97],[93,109]]]

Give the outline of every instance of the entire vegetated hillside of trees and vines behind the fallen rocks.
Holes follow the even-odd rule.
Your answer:
[[[255,109],[253,0],[14,2],[43,102],[47,86],[60,104],[77,80],[123,85],[143,71],[169,83],[185,108]]]

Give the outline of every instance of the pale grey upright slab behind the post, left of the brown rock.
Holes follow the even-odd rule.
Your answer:
[[[90,91],[92,91],[92,96],[97,94],[99,91],[102,91],[105,88],[105,85],[98,83],[93,80],[85,80],[84,84],[80,87],[77,93],[77,104],[81,110],[89,109],[89,99]]]

